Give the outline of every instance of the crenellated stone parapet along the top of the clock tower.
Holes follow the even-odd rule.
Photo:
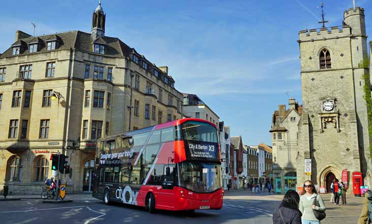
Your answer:
[[[348,38],[352,35],[350,26],[332,26],[320,29],[301,30],[299,42],[326,41],[329,39]]]

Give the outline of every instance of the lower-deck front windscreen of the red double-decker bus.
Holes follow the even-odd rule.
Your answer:
[[[220,164],[185,161],[178,168],[182,188],[196,193],[210,193],[222,188]]]

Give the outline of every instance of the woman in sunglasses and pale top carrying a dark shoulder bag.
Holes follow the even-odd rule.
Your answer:
[[[326,207],[311,180],[303,184],[299,209],[302,212],[302,224],[320,224],[320,217],[317,218],[315,213],[324,212]]]

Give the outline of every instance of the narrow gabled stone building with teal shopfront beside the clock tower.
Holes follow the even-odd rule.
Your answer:
[[[279,105],[271,119],[272,172],[276,193],[296,190],[297,163],[299,154],[298,123],[302,107],[294,98],[289,99],[289,108]]]

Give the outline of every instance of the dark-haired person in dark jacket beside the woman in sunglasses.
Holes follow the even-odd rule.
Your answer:
[[[300,196],[296,191],[289,190],[281,205],[272,214],[273,224],[301,224],[302,213],[298,209]]]

